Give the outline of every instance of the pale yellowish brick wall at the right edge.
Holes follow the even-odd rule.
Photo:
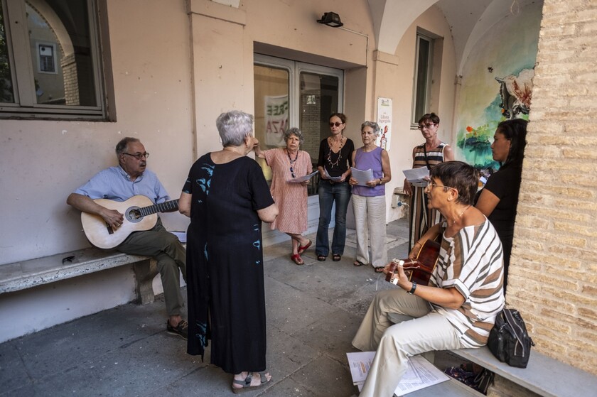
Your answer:
[[[596,35],[597,1],[544,1],[507,305],[534,349],[597,375]]]

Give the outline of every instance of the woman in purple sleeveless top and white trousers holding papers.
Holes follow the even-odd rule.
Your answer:
[[[353,209],[357,229],[357,258],[354,265],[371,263],[375,272],[381,273],[387,263],[384,184],[392,179],[392,172],[389,169],[387,151],[375,144],[378,136],[380,126],[377,123],[365,121],[361,125],[363,146],[353,152],[353,167],[363,171],[373,170],[373,179],[364,186],[357,185],[355,178],[350,178],[348,183],[353,186]],[[368,241],[371,244],[371,254],[367,246]]]

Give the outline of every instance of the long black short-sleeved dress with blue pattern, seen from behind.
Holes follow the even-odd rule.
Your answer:
[[[213,163],[210,153],[190,168],[187,232],[188,354],[212,341],[211,364],[230,374],[264,371],[266,324],[262,222],[274,204],[252,158]],[[209,316],[209,317],[208,317]]]

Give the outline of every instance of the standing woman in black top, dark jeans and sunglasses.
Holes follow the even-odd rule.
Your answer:
[[[330,136],[319,144],[317,170],[321,176],[318,187],[319,225],[315,252],[318,261],[325,261],[330,254],[328,228],[335,203],[335,227],[332,239],[332,259],[340,261],[346,240],[346,210],[350,201],[350,167],[353,165],[355,143],[343,135],[346,116],[333,113],[330,116]]]

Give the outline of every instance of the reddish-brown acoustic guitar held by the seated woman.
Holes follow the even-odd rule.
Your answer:
[[[415,281],[419,285],[428,285],[431,273],[434,272],[437,260],[439,259],[439,249],[441,245],[434,240],[427,240],[416,255],[416,259],[392,259],[389,272],[386,274],[386,281],[392,281],[392,275],[397,273],[397,266],[402,262],[404,273],[407,273],[409,281]]]

